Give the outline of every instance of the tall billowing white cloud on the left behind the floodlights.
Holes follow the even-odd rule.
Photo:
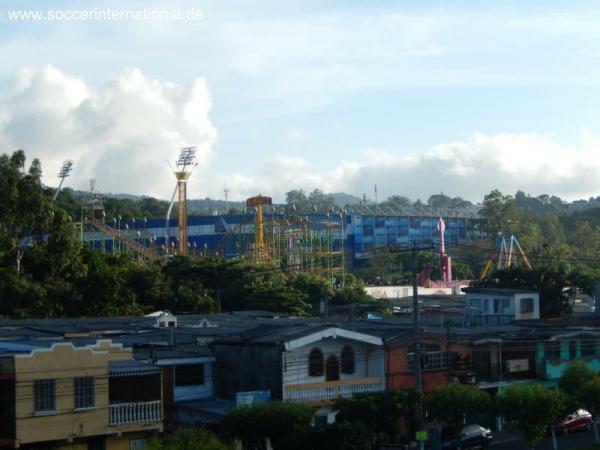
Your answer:
[[[166,163],[195,145],[206,166],[217,132],[202,78],[187,86],[123,71],[101,88],[47,66],[22,69],[0,100],[0,146],[40,158],[44,182],[55,185],[64,159],[75,166],[71,186],[96,178],[103,191],[168,197],[174,177]]]

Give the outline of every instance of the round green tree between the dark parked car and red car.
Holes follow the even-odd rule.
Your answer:
[[[498,408],[510,428],[521,433],[531,448],[564,411],[565,395],[539,384],[509,386],[498,398]]]

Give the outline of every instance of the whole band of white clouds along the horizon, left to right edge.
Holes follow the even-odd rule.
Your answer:
[[[224,186],[232,199],[262,193],[281,201],[297,188],[371,196],[374,184],[380,198],[426,199],[444,191],[479,201],[496,188],[568,199],[600,193],[600,140],[586,130],[577,146],[533,133],[474,133],[409,153],[371,148],[333,167],[302,157],[306,144],[300,141],[298,155],[271,157],[255,170],[217,171],[211,165],[217,132],[210,111],[202,78],[180,85],[128,69],[96,88],[53,67],[23,69],[0,101],[0,149],[23,148],[40,158],[51,185],[61,162],[71,158],[70,186],[86,188],[87,179],[96,178],[104,192],[160,198],[168,198],[174,186],[166,160],[187,145],[198,147],[200,161],[191,197],[221,198]]]

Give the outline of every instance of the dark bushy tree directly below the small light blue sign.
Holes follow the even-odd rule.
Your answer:
[[[313,411],[296,403],[262,403],[236,409],[225,419],[225,428],[248,450],[303,449]]]

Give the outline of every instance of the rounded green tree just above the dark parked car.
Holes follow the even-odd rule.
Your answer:
[[[487,392],[460,383],[434,389],[425,397],[425,409],[441,422],[460,424],[463,418],[489,410],[491,399]]]

